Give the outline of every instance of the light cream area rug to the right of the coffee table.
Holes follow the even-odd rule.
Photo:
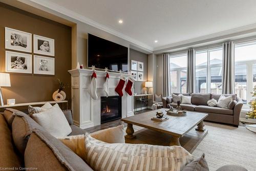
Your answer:
[[[246,127],[205,122],[208,135],[201,141],[192,155],[199,158],[205,153],[210,170],[223,165],[236,164],[256,171],[256,134]],[[134,126],[134,131],[143,129]]]

